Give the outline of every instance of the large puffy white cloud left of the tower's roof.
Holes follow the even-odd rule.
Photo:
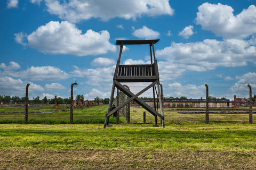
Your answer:
[[[67,21],[50,21],[30,35],[20,32],[14,36],[17,43],[49,54],[86,56],[116,51],[116,46],[109,43],[108,31],[87,30],[82,34],[75,24]]]

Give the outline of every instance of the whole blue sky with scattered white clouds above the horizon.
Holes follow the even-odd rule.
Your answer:
[[[110,98],[116,40],[155,44],[164,97],[234,99],[256,94],[256,0],[2,0],[0,95]],[[121,64],[150,63],[127,45]],[[147,83],[126,84],[136,93]],[[141,97],[153,96],[152,90]]]

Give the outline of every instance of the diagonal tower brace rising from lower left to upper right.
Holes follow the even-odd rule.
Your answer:
[[[117,82],[117,81],[116,81]],[[115,84],[116,84],[115,82]],[[118,82],[119,83],[119,82]],[[117,106],[115,109],[113,109],[112,111],[108,112],[108,114],[106,115],[106,117],[112,115],[113,113],[115,113],[116,111],[118,111],[119,109],[121,109],[122,107],[124,107],[125,105],[129,104],[130,101],[134,100],[135,98],[137,98],[138,96],[140,96],[141,94],[143,94],[143,92],[147,91],[148,89],[150,89],[151,87],[153,87],[156,83],[158,83],[158,80],[156,80],[155,82],[151,83],[148,87],[146,87],[145,89],[141,90],[140,92],[138,92],[138,94],[132,96],[130,99],[126,100],[124,103],[122,103],[121,105]],[[118,88],[120,88],[119,90],[121,90],[121,88],[125,89],[125,91],[129,91],[127,90],[124,86],[123,87],[120,87],[123,86],[121,83],[119,84],[116,84],[116,86]],[[121,90],[123,91],[123,90]],[[129,96],[129,95],[127,95]]]

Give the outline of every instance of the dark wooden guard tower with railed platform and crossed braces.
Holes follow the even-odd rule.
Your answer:
[[[116,70],[114,73],[113,86],[112,86],[111,96],[110,96],[110,100],[109,100],[108,111],[106,113],[104,128],[106,128],[106,126],[108,125],[109,116],[112,115],[113,113],[115,113],[116,111],[118,111],[119,109],[121,109],[122,107],[124,107],[126,104],[130,104],[130,101],[132,101],[132,100],[134,100],[140,106],[145,108],[149,113],[153,114],[155,116],[156,124],[157,124],[157,116],[160,117],[162,124],[163,124],[163,128],[164,128],[162,86],[159,82],[158,66],[157,66],[157,60],[156,60],[155,50],[154,50],[154,44],[156,44],[158,41],[159,41],[159,39],[117,40],[116,41],[116,45],[120,45],[120,52],[119,52],[119,57],[118,57],[118,60],[116,63]],[[149,48],[150,48],[151,64],[120,65],[121,54],[122,54],[124,45],[147,45],[147,44],[149,45]],[[152,51],[153,51],[153,54],[152,54]],[[152,56],[154,56],[154,62],[153,62]],[[122,83],[124,83],[124,82],[152,82],[152,83],[149,86],[147,86],[145,89],[138,92],[138,94],[133,94],[130,90],[125,88],[121,84],[121,82]],[[157,84],[158,90],[156,89],[156,84]],[[113,103],[115,88],[121,90],[125,95],[130,97],[130,99],[126,100],[124,103],[120,104],[115,109],[110,111],[112,103]],[[140,96],[141,94],[143,94],[143,92],[149,90],[150,88],[153,88],[153,98],[154,98],[155,109],[151,108],[144,101],[142,101],[140,98],[138,98],[138,96]],[[159,114],[157,112],[158,107],[156,107],[155,94],[157,95],[157,100],[159,101],[161,114]],[[157,105],[158,105],[158,103],[157,103]]]

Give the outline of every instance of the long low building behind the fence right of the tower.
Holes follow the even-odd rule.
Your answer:
[[[150,107],[154,108],[153,99],[142,99]],[[182,108],[195,107],[205,108],[205,99],[164,99],[164,108]],[[228,99],[212,99],[209,100],[209,107],[211,108],[228,108],[231,107],[231,101]]]

